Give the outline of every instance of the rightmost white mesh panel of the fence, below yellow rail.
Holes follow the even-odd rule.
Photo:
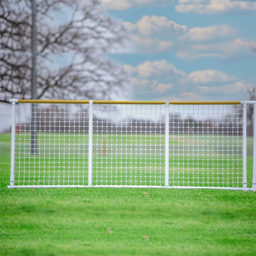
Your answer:
[[[243,108],[170,105],[169,186],[243,188]]]

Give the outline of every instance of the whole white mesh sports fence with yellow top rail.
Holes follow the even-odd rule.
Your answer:
[[[255,101],[10,102],[9,188],[256,190],[255,136],[253,169],[246,166],[246,112],[253,104],[256,113]]]

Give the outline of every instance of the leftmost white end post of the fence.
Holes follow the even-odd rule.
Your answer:
[[[14,163],[15,163],[15,129],[16,129],[16,118],[15,118],[15,105],[18,102],[16,99],[10,99],[12,103],[12,140],[11,140],[11,177],[10,186],[8,188],[14,187]]]

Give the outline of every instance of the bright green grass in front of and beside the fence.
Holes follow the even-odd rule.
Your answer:
[[[1,255],[255,254],[252,191],[8,189],[9,134],[0,154]]]

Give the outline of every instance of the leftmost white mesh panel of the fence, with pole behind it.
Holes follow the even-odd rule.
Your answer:
[[[88,104],[17,104],[15,186],[87,185],[88,127]]]

